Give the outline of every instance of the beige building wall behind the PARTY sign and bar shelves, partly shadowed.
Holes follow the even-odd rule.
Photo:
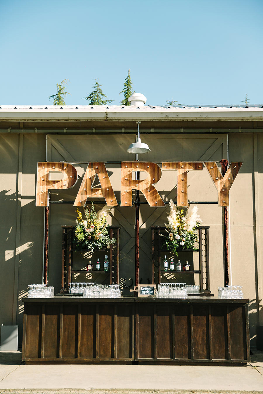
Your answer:
[[[47,132],[48,135],[48,132]],[[250,336],[256,346],[256,325],[263,324],[263,164],[260,152],[263,135],[260,133],[204,134],[147,134],[142,136],[151,152],[139,159],[161,161],[242,161],[243,165],[230,190],[231,279],[241,284],[244,297],[250,299]],[[0,134],[1,149],[1,207],[0,218],[0,324],[22,327],[21,298],[28,284],[42,281],[44,210],[35,207],[35,177],[38,161],[121,161],[134,160],[126,152],[134,140],[131,135],[46,135]],[[47,152],[46,152],[47,142]],[[77,166],[82,177],[86,164]],[[116,198],[120,200],[120,165],[107,165]],[[52,201],[73,201],[81,179],[66,191],[53,191]],[[162,171],[156,188],[163,199],[176,199],[176,171]],[[190,201],[217,201],[217,191],[204,167],[203,171],[188,173]],[[143,201],[144,198],[142,197]],[[98,209],[101,205],[97,206]],[[203,225],[209,225],[210,288],[217,295],[224,283],[222,208],[217,204],[200,204]],[[151,225],[163,225],[168,208],[140,207],[140,273],[143,282],[151,277]],[[61,284],[61,225],[75,225],[73,204],[50,204],[49,284],[60,290]],[[115,208],[110,223],[120,230],[120,278],[134,277],[134,208]],[[126,289],[125,289],[126,290]]]

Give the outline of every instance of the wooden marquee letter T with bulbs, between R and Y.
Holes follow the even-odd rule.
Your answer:
[[[177,206],[188,206],[187,171],[202,170],[203,163],[200,162],[162,163],[162,169],[177,170]]]

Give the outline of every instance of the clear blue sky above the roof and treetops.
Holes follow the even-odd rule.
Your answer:
[[[0,0],[0,104],[112,104],[131,69],[147,104],[263,103],[262,0]]]

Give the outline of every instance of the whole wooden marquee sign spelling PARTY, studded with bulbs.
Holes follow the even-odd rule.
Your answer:
[[[216,162],[163,162],[162,169],[177,170],[177,206],[188,206],[187,172],[207,167],[218,191],[218,205],[229,206],[229,190],[242,162],[230,163],[224,177]],[[146,179],[132,179],[132,173],[144,172]],[[150,206],[166,206],[154,184],[162,176],[159,165],[151,162],[121,162],[121,206],[132,206],[132,190],[139,190]],[[100,187],[96,184],[99,180]],[[72,188],[78,173],[69,163],[37,163],[36,206],[48,206],[48,190]],[[94,186],[93,186],[94,185]],[[104,198],[108,206],[118,206],[104,162],[90,162],[81,182],[74,206],[84,206],[87,198]]]

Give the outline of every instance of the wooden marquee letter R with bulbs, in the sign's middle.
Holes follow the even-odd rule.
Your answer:
[[[147,178],[132,180],[132,171],[144,171]],[[121,162],[121,206],[132,206],[132,189],[140,190],[150,206],[165,206],[152,185],[159,181],[162,170],[151,162]]]

